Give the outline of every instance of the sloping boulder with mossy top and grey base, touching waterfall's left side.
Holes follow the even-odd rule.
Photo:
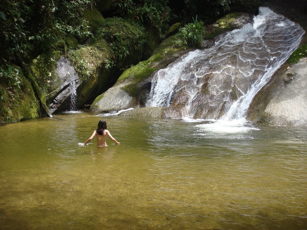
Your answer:
[[[188,47],[172,48],[175,38],[176,35],[165,39],[148,60],[126,69],[113,87],[95,99],[90,110],[107,112],[130,107],[144,107],[151,88],[152,73],[166,67],[191,50]],[[110,95],[113,95],[113,97]],[[121,98],[124,95],[126,95],[126,98]]]

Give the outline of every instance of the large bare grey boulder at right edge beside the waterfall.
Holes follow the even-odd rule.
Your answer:
[[[254,98],[248,119],[270,125],[307,126],[307,45]],[[292,64],[291,64],[292,63]]]

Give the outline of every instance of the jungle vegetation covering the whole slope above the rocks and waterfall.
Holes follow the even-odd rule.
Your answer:
[[[69,37],[76,38],[78,45],[83,45],[91,37],[94,40],[103,39],[108,44],[107,52],[114,54],[114,58],[110,57],[104,63],[108,70],[129,55],[131,45],[138,52],[143,52],[143,45],[148,39],[144,28],[152,28],[162,41],[167,36],[170,25],[180,22],[180,41],[176,46],[195,46],[204,38],[204,25],[243,2],[244,0],[1,0],[0,83],[5,82],[10,89],[20,89],[20,76],[23,75],[31,82],[44,108],[44,94],[28,65],[45,52],[57,51],[68,56]],[[97,9],[105,19],[97,31],[97,28],[91,28],[91,21],[86,15],[88,9]],[[134,25],[138,32],[130,35],[128,32],[123,33],[137,38],[137,44],[129,44],[120,33],[107,29],[110,25],[124,24],[126,21]],[[120,32],[122,31],[123,29]],[[95,48],[105,49],[99,45]],[[76,64],[77,68],[78,66],[81,73],[88,72],[82,61]],[[84,79],[87,77],[84,74]],[[6,88],[0,89],[1,94],[4,94],[3,90]],[[2,95],[0,100],[4,100]],[[44,110],[47,110],[47,114],[46,105]]]

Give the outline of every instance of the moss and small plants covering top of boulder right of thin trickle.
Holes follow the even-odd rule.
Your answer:
[[[110,70],[126,58],[132,49],[141,49],[142,29],[122,18],[107,18],[100,21],[93,43],[79,46],[68,52],[82,80],[87,80],[97,67]]]

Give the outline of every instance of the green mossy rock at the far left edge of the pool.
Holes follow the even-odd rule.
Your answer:
[[[39,102],[31,83],[21,74],[21,71],[18,75],[20,88],[9,80],[0,78],[0,123],[39,116]]]

